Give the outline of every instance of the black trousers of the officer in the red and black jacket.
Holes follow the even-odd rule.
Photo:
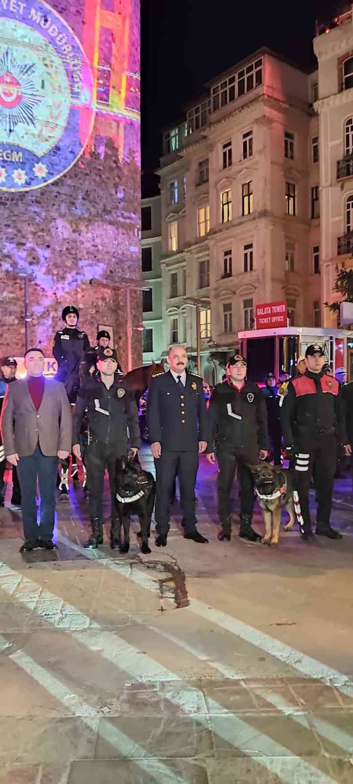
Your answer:
[[[318,499],[316,520],[329,523],[332,508],[333,477],[337,462],[335,434],[323,434],[302,442],[296,448],[295,488],[299,495],[301,514],[306,526],[310,525],[309,488],[311,475],[315,474],[315,491]]]

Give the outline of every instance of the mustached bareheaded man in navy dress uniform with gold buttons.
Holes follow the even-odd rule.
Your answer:
[[[148,389],[147,423],[155,458],[155,543],[165,547],[169,532],[169,500],[176,474],[180,483],[184,539],[207,543],[198,533],[195,516],[195,482],[198,454],[207,446],[207,410],[202,379],[186,370],[182,346],[168,352],[169,371],[152,376]]]

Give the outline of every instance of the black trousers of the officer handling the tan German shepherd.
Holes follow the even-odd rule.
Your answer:
[[[240,486],[240,514],[253,514],[253,474],[246,463],[258,463],[257,454],[249,456],[240,454],[239,450],[231,445],[227,448],[218,448],[218,514],[220,522],[225,522],[231,511],[231,488],[238,468],[238,481]]]

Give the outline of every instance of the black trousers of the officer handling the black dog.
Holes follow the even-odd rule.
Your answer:
[[[126,455],[127,445],[123,441],[115,444],[104,444],[104,441],[90,441],[85,449],[85,465],[87,471],[87,485],[89,487],[89,518],[102,520],[103,516],[103,490],[104,474],[107,468],[109,485],[111,488],[111,518],[117,519],[118,513],[115,506],[115,474],[118,457]]]

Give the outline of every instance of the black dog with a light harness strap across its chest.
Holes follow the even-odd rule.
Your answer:
[[[116,507],[119,523],[111,525],[111,550],[118,545],[120,553],[128,553],[130,546],[130,515],[137,514],[141,530],[142,553],[151,553],[148,539],[151,535],[151,515],[155,506],[155,479],[149,471],[142,470],[138,459],[119,458],[116,462]],[[120,540],[121,527],[124,541]]]

